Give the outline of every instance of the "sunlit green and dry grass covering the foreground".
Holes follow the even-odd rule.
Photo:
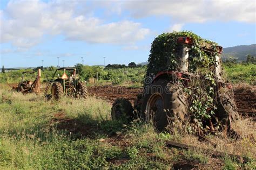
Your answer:
[[[1,169],[167,169],[176,162],[214,164],[202,150],[167,148],[165,140],[181,141],[200,148],[214,148],[192,134],[157,133],[151,124],[112,121],[111,104],[89,97],[44,101],[41,95],[22,95],[0,84]],[[214,148],[252,159],[246,165],[220,158],[223,168],[255,167],[255,136],[250,119],[235,125],[243,140],[209,136]],[[104,140],[102,140],[104,139]]]

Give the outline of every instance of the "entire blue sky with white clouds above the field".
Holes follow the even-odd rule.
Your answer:
[[[254,0],[1,0],[0,66],[140,63],[159,34],[183,30],[223,47],[251,45],[255,23]]]

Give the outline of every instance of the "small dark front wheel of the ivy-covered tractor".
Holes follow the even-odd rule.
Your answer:
[[[134,109],[132,108],[131,102],[125,98],[118,98],[112,105],[111,117],[113,120],[125,119],[132,121]]]

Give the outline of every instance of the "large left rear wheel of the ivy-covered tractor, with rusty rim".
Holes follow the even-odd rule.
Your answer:
[[[157,80],[144,92],[142,114],[147,122],[163,131],[169,124],[182,130],[186,121],[187,104],[183,90],[167,80]]]

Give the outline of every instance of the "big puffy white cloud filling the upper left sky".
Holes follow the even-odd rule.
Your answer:
[[[79,1],[10,1],[6,9],[0,11],[1,42],[30,48],[41,42],[46,34],[62,34],[66,40],[134,44],[150,32],[140,23],[129,20],[104,23],[99,18],[86,16],[84,11],[79,14],[77,8],[80,5],[87,4]]]

